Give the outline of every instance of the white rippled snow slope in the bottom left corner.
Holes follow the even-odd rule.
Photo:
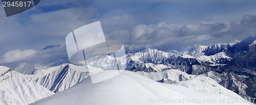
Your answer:
[[[0,104],[29,104],[53,94],[26,75],[0,66]]]

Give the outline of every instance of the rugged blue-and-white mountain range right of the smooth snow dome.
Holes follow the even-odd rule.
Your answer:
[[[128,55],[127,59],[133,65],[129,68],[132,71],[179,69],[188,74],[209,76],[244,98],[256,96],[256,37],[241,42],[188,47],[181,51],[146,48]]]

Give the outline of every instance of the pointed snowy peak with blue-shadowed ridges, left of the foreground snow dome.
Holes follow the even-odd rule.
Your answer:
[[[103,71],[102,69],[94,68],[92,66],[88,66],[88,69],[90,69],[90,72],[81,72],[71,69],[69,65],[60,65],[41,70],[35,75],[29,76],[33,77],[37,83],[50,91],[58,93],[74,86],[92,74]]]

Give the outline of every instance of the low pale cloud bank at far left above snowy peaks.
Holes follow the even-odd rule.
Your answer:
[[[0,57],[0,64],[14,69],[21,63],[38,65],[59,65],[69,63],[66,46],[57,46],[44,50],[15,49],[6,52]]]

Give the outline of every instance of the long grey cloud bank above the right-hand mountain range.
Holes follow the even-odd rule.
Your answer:
[[[121,40],[129,49],[145,47],[176,46],[181,48],[193,44],[230,42],[240,36],[248,37],[256,33],[256,17],[244,16],[238,21],[200,22],[186,24],[138,24],[131,32],[115,31],[108,39]],[[173,47],[167,47],[167,49]]]

